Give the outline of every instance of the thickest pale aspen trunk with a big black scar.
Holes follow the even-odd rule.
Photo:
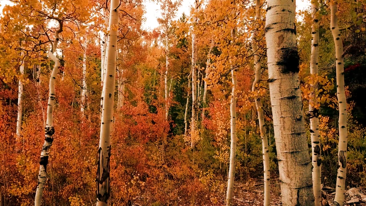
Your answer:
[[[296,45],[295,1],[269,0],[265,38],[279,180],[284,206],[314,205]]]

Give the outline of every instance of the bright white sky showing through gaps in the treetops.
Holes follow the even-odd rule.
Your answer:
[[[179,19],[180,16],[182,16],[183,12],[184,14],[189,15],[191,11],[191,6],[194,4],[194,2],[195,0],[182,0],[182,5],[178,8],[175,19]],[[11,2],[9,0],[0,0],[1,15],[5,4],[11,4]],[[146,21],[143,22],[142,26],[144,29],[151,31],[159,26],[157,18],[161,17],[159,11],[160,5],[154,3],[152,0],[143,0],[143,4],[146,8],[146,13],[144,15]],[[304,10],[309,7],[310,0],[297,0],[296,4],[296,11]]]

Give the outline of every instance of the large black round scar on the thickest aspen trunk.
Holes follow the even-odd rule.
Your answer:
[[[299,73],[299,53],[296,47],[283,47],[279,51],[280,61],[276,64],[282,67],[282,73]]]

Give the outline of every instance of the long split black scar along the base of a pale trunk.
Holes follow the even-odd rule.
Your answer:
[[[98,170],[97,170],[97,199],[100,202],[105,202],[109,200],[110,192],[111,192],[111,185],[110,183],[110,177],[109,177],[109,159],[111,157],[111,146],[109,146],[108,150],[108,158],[107,159],[107,165],[104,167],[104,156],[102,152],[102,148],[99,147],[98,150]],[[102,190],[100,190],[102,189]]]

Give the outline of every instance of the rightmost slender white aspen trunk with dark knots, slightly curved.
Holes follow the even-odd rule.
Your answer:
[[[330,1],[330,27],[334,39],[336,50],[336,79],[337,79],[337,99],[338,99],[338,172],[337,172],[337,187],[334,202],[337,205],[343,206],[344,203],[344,185],[346,183],[347,172],[347,100],[344,89],[344,65],[343,65],[343,42],[338,27],[337,2]]]

